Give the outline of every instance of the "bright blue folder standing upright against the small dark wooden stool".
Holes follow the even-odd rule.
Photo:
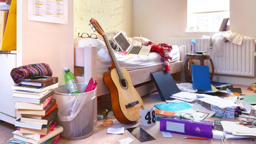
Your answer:
[[[211,91],[209,67],[206,65],[191,65],[193,89]]]

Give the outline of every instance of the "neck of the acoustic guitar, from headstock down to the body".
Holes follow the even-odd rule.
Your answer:
[[[103,34],[102,37],[103,37],[103,39],[104,39],[104,41],[106,43],[106,46],[108,48],[108,51],[109,51],[110,57],[111,57],[111,59],[112,59],[112,61],[114,63],[114,66],[116,67],[116,71],[118,73],[119,78],[120,79],[124,79],[123,72],[120,69],[120,65],[119,65],[119,63],[118,63],[118,61],[116,59],[116,56],[114,54],[114,50],[112,49],[112,46],[109,43],[109,39],[108,39],[107,35]]]

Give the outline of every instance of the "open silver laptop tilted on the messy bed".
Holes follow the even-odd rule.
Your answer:
[[[148,56],[151,46],[132,46],[123,33],[119,32],[113,37],[117,45],[129,54],[141,54]]]

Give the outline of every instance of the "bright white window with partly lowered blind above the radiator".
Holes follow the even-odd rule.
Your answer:
[[[219,31],[223,18],[229,18],[229,0],[188,0],[188,31]]]

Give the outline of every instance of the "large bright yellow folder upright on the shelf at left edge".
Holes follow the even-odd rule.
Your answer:
[[[16,8],[17,0],[12,0],[5,26],[1,50],[16,50]]]

